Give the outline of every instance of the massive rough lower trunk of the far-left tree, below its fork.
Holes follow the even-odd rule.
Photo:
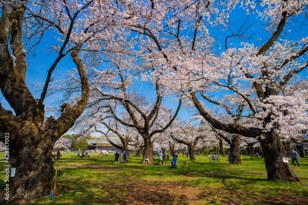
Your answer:
[[[16,168],[16,172],[9,179],[9,196],[2,192],[0,204],[8,202],[6,197],[10,203],[14,203],[21,199],[31,200],[48,195],[54,175],[51,162],[52,137],[39,135],[36,126],[30,122],[25,122],[16,133],[9,134],[10,165]]]

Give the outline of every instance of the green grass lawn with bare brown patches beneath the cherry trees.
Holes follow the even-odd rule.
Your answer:
[[[2,152],[3,153],[3,152]],[[4,154],[0,154],[3,158]],[[91,154],[90,158],[63,153],[54,164],[59,195],[55,200],[37,199],[31,204],[307,204],[308,187],[301,183],[268,182],[263,158],[244,156],[243,165],[208,162],[207,156],[189,161],[179,156],[178,167],[142,165],[141,157],[114,164],[114,156]],[[188,161],[188,167],[183,162]],[[299,160],[296,175],[308,184],[308,158]],[[5,164],[1,162],[1,164]],[[0,164],[0,189],[4,166]],[[53,189],[52,189],[53,190]]]

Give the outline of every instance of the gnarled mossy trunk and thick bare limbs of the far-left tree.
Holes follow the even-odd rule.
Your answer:
[[[81,115],[89,97],[87,76],[78,57],[79,46],[71,57],[81,79],[81,98],[75,106],[63,105],[58,119],[51,116],[44,122],[44,105],[37,103],[25,82],[27,67],[21,38],[24,11],[24,6],[4,6],[0,20],[0,87],[16,114],[0,106],[0,140],[4,141],[4,133],[9,134],[11,168],[16,168],[15,176],[10,178],[9,196],[6,198],[2,191],[0,203],[6,203],[6,199],[9,203],[31,200],[50,193],[54,174],[52,148]],[[8,48],[9,38],[15,63]]]

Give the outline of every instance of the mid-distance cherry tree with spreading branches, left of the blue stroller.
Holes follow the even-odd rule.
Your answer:
[[[135,71],[136,68],[131,68],[132,64],[127,66],[128,62],[124,63],[132,61],[127,60],[130,58],[128,55],[124,56],[124,54],[115,56],[107,69],[95,69],[95,75],[90,80],[93,83],[88,105],[94,109],[93,112],[89,112],[93,122],[100,122],[110,130],[115,131],[105,122],[109,118],[136,130],[144,140],[143,164],[152,164],[153,138],[172,124],[180,110],[181,100],[176,111],[172,111],[172,117],[163,120],[161,116],[164,115],[164,109],[161,108],[163,107],[161,102],[165,91],[160,85],[159,76],[153,78],[152,82],[148,81],[154,87],[155,93],[155,99],[151,99],[149,103],[148,99],[138,91],[138,87],[135,87],[142,83],[140,81],[143,80],[142,76]]]

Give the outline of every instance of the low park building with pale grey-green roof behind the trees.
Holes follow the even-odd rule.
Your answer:
[[[121,140],[118,136],[110,136],[109,139],[114,144],[121,144]],[[87,140],[88,150],[102,150],[102,151],[116,151],[117,148],[113,147],[110,142],[100,137],[96,140]]]

